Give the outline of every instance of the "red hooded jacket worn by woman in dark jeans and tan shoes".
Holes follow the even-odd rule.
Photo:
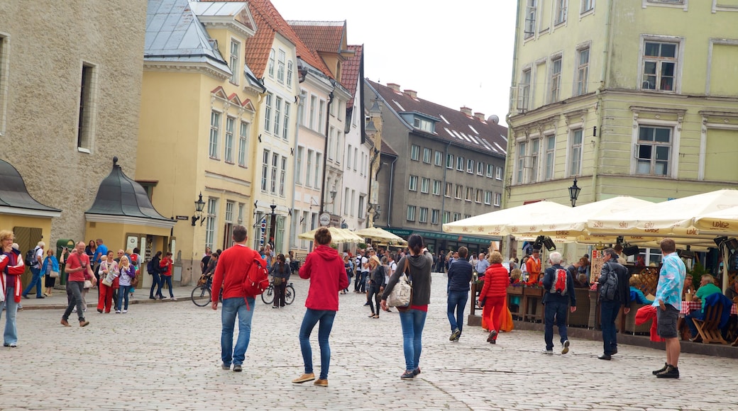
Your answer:
[[[315,247],[300,267],[300,278],[310,278],[305,306],[338,311],[338,292],[348,287],[348,276],[338,251],[327,245]]]

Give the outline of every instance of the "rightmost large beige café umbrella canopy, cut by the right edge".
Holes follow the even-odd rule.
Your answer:
[[[709,233],[701,233],[694,227],[694,219],[736,204],[738,190],[722,189],[592,218],[587,220],[586,228],[590,233],[600,234],[710,239]]]

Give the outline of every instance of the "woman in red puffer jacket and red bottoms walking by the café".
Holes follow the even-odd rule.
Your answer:
[[[487,342],[497,343],[497,334],[500,333],[500,325],[503,319],[503,307],[507,298],[507,287],[510,278],[505,267],[503,267],[503,256],[497,251],[489,253],[489,267],[484,272],[484,287],[479,293],[479,301],[484,301],[482,311],[482,327],[489,327]]]

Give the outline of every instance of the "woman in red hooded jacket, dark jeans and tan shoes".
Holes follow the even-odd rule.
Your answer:
[[[338,251],[331,248],[331,231],[328,231],[328,228],[319,228],[315,232],[315,244],[317,246],[308,254],[305,264],[300,267],[300,278],[310,278],[308,298],[305,301],[308,310],[303,317],[303,325],[300,326],[300,349],[303,351],[305,373],[292,382],[301,384],[315,379],[310,333],[320,321],[318,326],[320,378],[314,384],[328,387],[328,366],[331,365],[328,337],[331,335],[333,320],[338,311],[338,292],[348,287],[348,277]]]

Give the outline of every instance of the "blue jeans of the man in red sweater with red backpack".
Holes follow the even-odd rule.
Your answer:
[[[241,365],[246,357],[246,348],[249,348],[251,337],[251,320],[254,317],[255,298],[249,297],[249,306],[242,297],[224,298],[221,311],[221,359],[224,365]],[[238,339],[233,348],[233,329],[235,317],[238,315]]]

